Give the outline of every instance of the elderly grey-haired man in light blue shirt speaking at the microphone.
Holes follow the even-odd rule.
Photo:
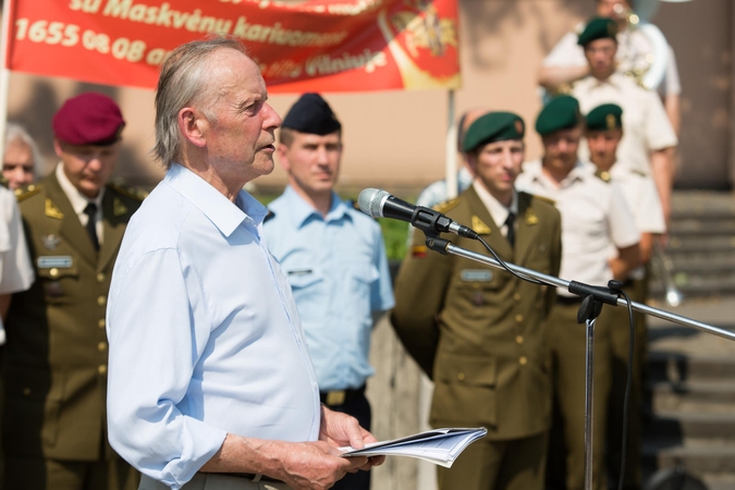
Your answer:
[[[231,38],[176,48],[156,96],[168,166],[127,228],[108,305],[113,448],[140,489],[327,489],[382,458],[319,404],[286,278],[243,186],[273,170],[281,118]]]

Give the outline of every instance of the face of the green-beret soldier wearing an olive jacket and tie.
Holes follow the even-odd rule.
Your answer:
[[[473,173],[497,199],[512,196],[513,183],[520,173],[525,146],[522,139],[488,143],[468,156]],[[505,204],[505,203],[504,203]]]

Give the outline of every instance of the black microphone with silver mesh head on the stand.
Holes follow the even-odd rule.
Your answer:
[[[473,230],[455,223],[441,212],[406,203],[395,196],[391,196],[385,191],[377,188],[364,189],[357,197],[357,206],[360,211],[372,218],[391,218],[406,221],[424,233],[454,233],[467,238],[478,238],[477,233]]]

